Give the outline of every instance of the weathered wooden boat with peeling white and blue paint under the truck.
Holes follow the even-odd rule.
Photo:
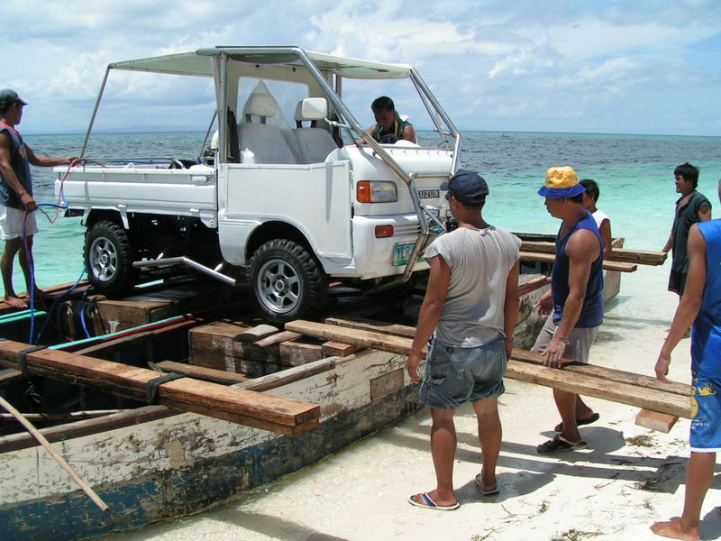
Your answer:
[[[526,273],[523,282],[515,344],[527,348],[537,326],[543,325],[533,307],[548,280]],[[300,426],[278,434],[278,430],[263,429],[268,426],[262,423],[247,426],[179,412],[163,405],[167,397],[162,392],[160,405],[143,405],[137,394],[128,401],[109,398],[107,386],[96,394],[86,386],[83,392],[90,399],[97,399],[99,393],[109,400],[102,403],[103,408],[119,411],[47,426],[41,432],[56,442],[59,453],[96,489],[111,512],[97,509],[31,436],[0,436],[4,538],[79,539],[206,509],[315,463],[419,407],[417,390],[404,370],[405,354],[361,349],[287,330],[269,331],[257,321],[223,318],[222,313],[205,320],[182,316],[188,308],[218,306],[227,300],[217,297],[217,288],[213,291],[184,286],[175,292],[168,288],[146,291],[123,300],[80,298],[92,301],[96,308],[87,326],[113,332],[27,353],[28,365],[62,353],[66,362],[76,360],[79,365],[88,359],[112,359],[136,367],[128,369],[135,373],[150,361],[156,369],[192,378],[187,381],[196,383],[189,388],[218,381],[238,390],[317,405],[315,425],[311,420],[311,429]],[[340,307],[348,316],[344,310]],[[406,306],[393,316],[415,314],[415,310]],[[378,324],[391,314],[388,307],[374,303],[356,309],[354,316],[370,317]],[[70,326],[68,320],[61,330],[67,332]],[[18,336],[23,335],[21,329]],[[13,388],[4,385],[4,379],[20,381],[17,389],[26,390],[16,363],[22,347],[8,340],[0,342],[0,365],[12,367],[11,373],[0,371],[0,393],[12,394]],[[87,378],[78,378],[69,374],[65,380],[87,383]],[[55,392],[63,385],[71,387],[58,382],[48,387]]]

